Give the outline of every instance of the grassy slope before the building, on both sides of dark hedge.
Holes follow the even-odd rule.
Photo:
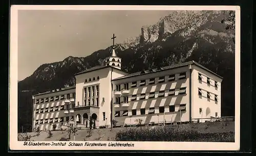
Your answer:
[[[200,133],[218,133],[218,132],[234,132],[234,122],[214,122],[214,123],[193,123],[193,124],[183,124],[185,127],[190,127],[197,129]],[[130,127],[118,127],[106,129],[93,129],[92,135],[88,137],[87,130],[78,130],[77,135],[75,136],[76,141],[115,141],[115,136],[118,131],[123,128]],[[136,127],[131,127],[136,128]],[[66,131],[56,131],[52,132],[53,136],[47,138],[47,132],[41,132],[39,136],[35,136],[36,133],[28,133],[33,137],[30,138],[30,141],[59,141],[61,138],[67,138],[68,134]],[[73,134],[71,135],[71,141],[74,140]]]

